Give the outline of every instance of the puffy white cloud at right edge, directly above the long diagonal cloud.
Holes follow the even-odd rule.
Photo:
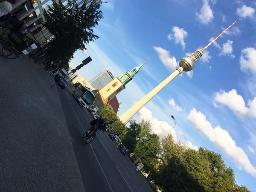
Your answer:
[[[256,97],[253,100],[249,100],[248,107],[246,107],[244,98],[237,94],[235,89],[229,92],[221,90],[215,93],[214,101],[221,105],[226,105],[238,116],[250,115],[256,118]]]

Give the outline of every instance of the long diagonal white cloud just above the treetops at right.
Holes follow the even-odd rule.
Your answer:
[[[219,126],[212,128],[210,122],[206,120],[206,116],[200,111],[196,111],[195,108],[190,111],[187,119],[197,131],[230,157],[240,170],[244,169],[247,173],[256,177],[256,169],[250,163],[247,154],[242,148],[236,146],[236,142],[226,130]]]

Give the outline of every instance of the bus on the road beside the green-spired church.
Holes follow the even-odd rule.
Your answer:
[[[72,95],[82,107],[87,107],[95,102],[93,92],[84,86],[77,87]]]

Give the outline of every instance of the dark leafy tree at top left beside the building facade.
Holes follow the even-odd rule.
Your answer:
[[[106,2],[91,3],[88,7],[85,3],[81,7],[76,4],[73,10],[72,6],[65,8],[61,1],[53,1],[53,6],[44,10],[43,26],[53,35],[50,41],[51,51],[47,52],[52,61],[61,59],[64,67],[76,50],[86,49],[86,44],[99,38],[93,33],[93,28],[103,18],[100,11],[102,3]]]

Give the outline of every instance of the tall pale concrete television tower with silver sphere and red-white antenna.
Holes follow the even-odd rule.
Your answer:
[[[233,24],[230,25],[227,29],[229,29]],[[179,66],[175,72],[173,72],[169,77],[163,80],[157,87],[151,90],[147,95],[145,95],[140,101],[135,103],[130,109],[128,109],[125,113],[123,113],[119,118],[123,123],[128,122],[134,114],[136,114],[144,105],[146,105],[157,93],[160,92],[169,82],[171,82],[178,74],[182,73],[182,71],[188,72],[191,71],[195,67],[195,61],[198,60],[199,57],[203,55],[203,52],[209,47],[214,41],[216,41],[223,33],[227,31],[225,29],[218,37],[214,38],[206,47],[201,50],[196,50],[192,53],[191,56],[185,56],[180,59]]]

